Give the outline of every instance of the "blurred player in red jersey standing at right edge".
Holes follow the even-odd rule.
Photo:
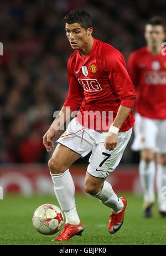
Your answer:
[[[139,175],[144,193],[145,217],[152,216],[155,161],[160,216],[166,217],[166,53],[162,48],[165,24],[152,17],[146,24],[147,46],[133,52],[128,71],[137,86],[135,139],[132,149],[141,151]]]

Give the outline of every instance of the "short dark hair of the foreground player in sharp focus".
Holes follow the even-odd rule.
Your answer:
[[[85,30],[92,27],[90,14],[82,9],[72,10],[70,13],[66,14],[64,21],[68,24],[79,23]]]

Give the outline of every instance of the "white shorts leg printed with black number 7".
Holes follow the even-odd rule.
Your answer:
[[[106,150],[104,141],[98,143],[96,148],[92,150],[87,172],[94,177],[106,178],[120,163],[131,134],[132,129],[126,132],[120,132],[118,134],[117,146],[111,151]]]

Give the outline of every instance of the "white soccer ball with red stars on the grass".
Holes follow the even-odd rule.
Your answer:
[[[61,229],[64,223],[64,216],[59,207],[45,203],[36,209],[32,222],[39,233],[51,235]]]

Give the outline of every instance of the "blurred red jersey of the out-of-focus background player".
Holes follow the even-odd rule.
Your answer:
[[[166,56],[147,47],[133,52],[128,73],[137,87],[136,112],[150,119],[166,119]]]

